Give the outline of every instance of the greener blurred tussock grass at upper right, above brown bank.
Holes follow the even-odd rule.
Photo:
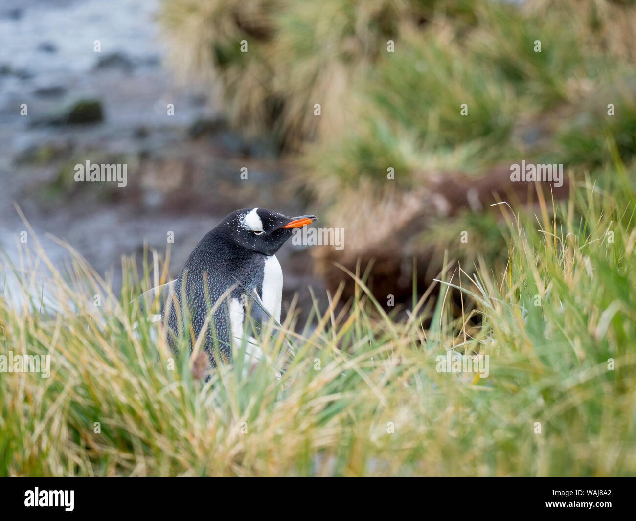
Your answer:
[[[591,4],[605,13],[597,31]],[[572,3],[529,2],[521,10],[475,1],[474,20],[437,13],[420,27],[404,22],[396,52],[381,53],[350,85],[342,111],[354,123],[306,148],[305,181],[333,200],[333,184],[385,183],[387,166],[404,190],[425,183],[422,170],[478,172],[520,157],[595,167],[609,160],[607,134],[631,160],[636,69],[624,46],[604,38],[626,41],[612,20],[619,11],[635,20],[636,10],[605,4],[577,3],[575,11]],[[611,117],[610,102],[621,108]]]

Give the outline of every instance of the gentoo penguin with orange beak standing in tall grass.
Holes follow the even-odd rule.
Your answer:
[[[247,307],[257,322],[272,316],[280,323],[282,270],[275,253],[294,228],[315,220],[314,215],[288,217],[265,208],[226,216],[200,240],[172,285],[162,310],[170,347],[176,351],[179,335],[185,334],[192,352],[207,319],[202,347],[215,367],[216,352],[229,362],[240,347]]]

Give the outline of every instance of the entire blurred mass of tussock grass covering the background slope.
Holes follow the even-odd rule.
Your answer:
[[[598,123],[595,105],[633,97],[633,83],[602,95],[635,72],[628,2],[163,0],[160,18],[183,77],[203,80],[243,131],[310,152],[308,182],[381,179],[393,165],[408,183],[459,146],[473,153],[457,168],[534,153],[519,125],[551,135],[582,105]]]

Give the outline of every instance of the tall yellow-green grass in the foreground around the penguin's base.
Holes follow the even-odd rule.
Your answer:
[[[0,373],[0,473],[633,475],[636,190],[617,165],[536,215],[502,204],[507,267],[449,264],[434,307],[417,295],[399,320],[350,273],[350,302],[332,295],[307,326],[288,310],[296,356],[280,380],[266,362],[207,384],[185,356],[170,369],[129,303],[158,270],[124,263],[116,297],[76,254],[59,272],[30,235],[15,266],[2,260],[19,284],[0,298],[1,354],[50,354],[51,375]],[[263,341],[273,353],[282,337]],[[488,355],[489,376],[437,372],[448,349]]]

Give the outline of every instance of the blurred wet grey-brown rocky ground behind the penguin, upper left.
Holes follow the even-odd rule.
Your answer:
[[[121,284],[122,255],[160,254],[174,232],[170,272],[218,220],[242,207],[312,209],[286,190],[266,138],[228,129],[207,94],[163,67],[155,0],[8,0],[0,8],[0,244],[14,260],[25,229],[17,203],[53,262],[66,240]],[[94,52],[95,40],[100,52]],[[22,104],[27,115],[20,115]],[[167,115],[167,105],[174,115]],[[74,165],[128,165],[128,183],[75,183]],[[247,168],[247,179],[240,169]],[[279,255],[286,296],[312,276],[307,252]]]

